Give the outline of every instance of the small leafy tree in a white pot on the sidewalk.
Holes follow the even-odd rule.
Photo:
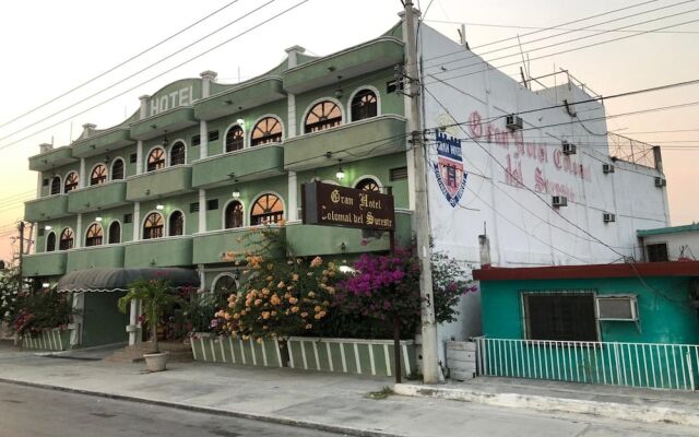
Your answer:
[[[165,370],[168,352],[161,352],[157,343],[157,323],[162,319],[165,310],[179,304],[180,299],[170,292],[171,287],[165,277],[140,279],[129,284],[129,293],[119,299],[119,309],[127,311],[127,307],[132,300],[141,300],[145,321],[151,328],[151,341],[153,342],[153,353],[143,354],[145,366],[150,371]]]

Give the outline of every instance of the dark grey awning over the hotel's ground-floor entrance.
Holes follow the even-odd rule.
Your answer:
[[[127,292],[140,279],[167,279],[174,287],[199,287],[199,274],[189,269],[88,269],[76,270],[58,281],[59,292]]]

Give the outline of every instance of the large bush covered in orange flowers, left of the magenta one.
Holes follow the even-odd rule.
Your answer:
[[[242,285],[228,297],[228,308],[216,312],[215,328],[259,341],[315,332],[335,294],[333,262],[248,255],[245,265]]]

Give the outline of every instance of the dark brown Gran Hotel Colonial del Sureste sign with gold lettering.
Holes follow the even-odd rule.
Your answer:
[[[394,231],[393,197],[331,184],[301,186],[304,224]]]

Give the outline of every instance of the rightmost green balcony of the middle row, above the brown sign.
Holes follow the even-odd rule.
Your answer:
[[[405,118],[384,115],[286,140],[284,168],[300,172],[404,151]]]

